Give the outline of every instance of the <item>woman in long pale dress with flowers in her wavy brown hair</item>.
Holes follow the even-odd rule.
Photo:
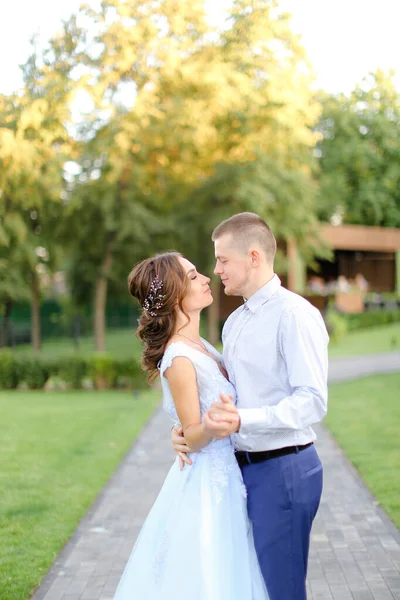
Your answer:
[[[149,381],[160,377],[164,409],[182,424],[193,466],[180,470],[177,457],[170,469],[115,600],[268,600],[233,446],[213,440],[202,422],[220,393],[235,398],[221,355],[199,333],[213,301],[209,282],[175,252],[142,261],[128,278],[143,308],[142,366]]]

